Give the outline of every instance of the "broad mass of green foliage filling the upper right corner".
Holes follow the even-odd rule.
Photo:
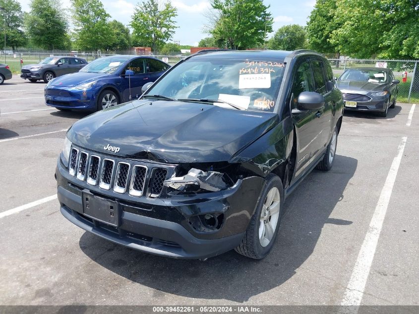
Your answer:
[[[307,26],[310,47],[353,58],[419,58],[419,2],[317,0]]]

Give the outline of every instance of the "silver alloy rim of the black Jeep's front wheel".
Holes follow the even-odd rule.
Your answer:
[[[262,247],[266,247],[275,235],[279,219],[280,203],[281,196],[278,188],[271,188],[266,195],[259,219],[259,242]]]

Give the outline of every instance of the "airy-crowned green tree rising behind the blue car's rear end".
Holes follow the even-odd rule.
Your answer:
[[[153,52],[161,49],[175,33],[176,16],[178,10],[170,1],[145,0],[138,3],[130,24],[135,41],[152,47]]]

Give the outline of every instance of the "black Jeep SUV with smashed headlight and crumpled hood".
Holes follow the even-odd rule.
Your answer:
[[[202,51],[143,91],[70,127],[56,170],[61,213],[139,251],[263,258],[284,198],[335,159],[343,100],[327,60]]]

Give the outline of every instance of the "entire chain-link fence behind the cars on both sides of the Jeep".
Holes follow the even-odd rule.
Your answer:
[[[117,52],[118,54],[128,54],[128,52]],[[101,57],[113,56],[114,54],[101,54],[97,52],[92,53],[75,53],[75,52],[54,52],[54,53],[34,53],[34,52],[23,52],[6,54],[5,60],[4,55],[0,56],[0,63],[6,63],[9,65],[13,73],[20,73],[22,65],[39,63],[47,57],[53,56],[73,56],[92,62]],[[154,56],[162,61],[174,65],[186,56]],[[328,59],[332,65],[334,74],[339,77],[342,73],[351,67],[359,66],[376,66],[380,63],[383,66],[390,68],[396,79],[400,80],[399,92],[397,100],[399,102],[410,102],[419,103],[419,61],[410,60],[361,60],[361,59]]]

